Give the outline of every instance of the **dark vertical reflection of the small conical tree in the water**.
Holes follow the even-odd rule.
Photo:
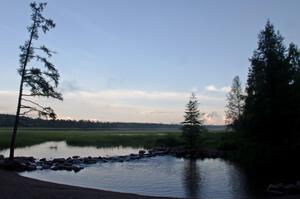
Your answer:
[[[196,160],[186,160],[184,162],[183,183],[186,196],[188,198],[199,197],[200,183],[199,167]]]

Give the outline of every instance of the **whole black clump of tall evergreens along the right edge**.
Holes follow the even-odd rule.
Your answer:
[[[289,164],[300,153],[300,51],[268,21],[250,63],[243,111],[230,124],[248,143],[240,148],[252,150],[244,155]]]

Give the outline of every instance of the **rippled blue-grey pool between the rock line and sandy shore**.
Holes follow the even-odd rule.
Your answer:
[[[244,173],[222,159],[170,156],[89,165],[79,173],[34,171],[21,175],[51,182],[150,196],[249,199]]]

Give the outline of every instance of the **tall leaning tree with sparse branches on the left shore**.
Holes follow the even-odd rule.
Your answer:
[[[56,91],[59,83],[59,73],[55,66],[48,61],[48,58],[50,58],[54,52],[44,45],[40,47],[33,46],[34,40],[38,40],[39,38],[40,31],[45,34],[55,27],[55,23],[51,19],[47,19],[41,14],[46,5],[46,3],[35,2],[30,4],[32,10],[32,24],[27,28],[29,40],[25,41],[25,44],[20,46],[20,68],[18,69],[18,72],[21,76],[21,81],[10,145],[10,159],[14,158],[14,148],[20,116],[37,113],[39,117],[56,118],[56,114],[51,107],[44,107],[35,102],[33,98],[47,97],[58,100],[63,99],[62,95]],[[45,56],[37,54],[36,51],[43,52]],[[35,61],[35,67],[28,68],[28,64],[33,61]],[[28,88],[28,93],[24,93],[24,87]],[[21,112],[21,110],[24,110],[24,112]]]

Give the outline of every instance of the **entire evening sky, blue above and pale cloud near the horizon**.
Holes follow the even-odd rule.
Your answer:
[[[0,113],[14,114],[27,0],[0,0]],[[191,92],[206,124],[223,124],[226,94],[243,86],[269,19],[300,44],[298,0],[49,0],[56,28],[36,45],[57,52],[64,101],[37,99],[62,119],[179,123]]]

